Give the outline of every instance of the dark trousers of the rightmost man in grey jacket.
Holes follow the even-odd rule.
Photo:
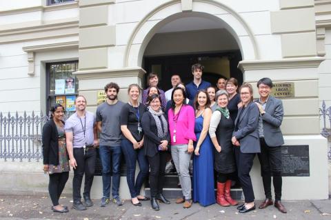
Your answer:
[[[261,163],[261,176],[265,197],[272,199],[271,176],[274,183],[274,197],[276,201],[281,200],[281,146],[269,147],[264,138],[260,139],[261,153],[257,154]]]

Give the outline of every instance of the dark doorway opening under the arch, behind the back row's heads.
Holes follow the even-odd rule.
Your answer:
[[[163,55],[143,58],[143,68],[147,73],[156,72],[159,75],[159,88],[169,90],[171,86],[170,78],[172,74],[179,74],[183,83],[192,81],[191,66],[194,63],[201,63],[205,70],[203,80],[216,86],[219,77],[234,77],[243,82],[243,74],[237,68],[241,61],[240,50],[231,50],[227,52],[199,53],[199,54],[181,54],[181,55]],[[147,81],[146,87],[147,87]]]

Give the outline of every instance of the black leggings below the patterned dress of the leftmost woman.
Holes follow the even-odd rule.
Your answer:
[[[59,172],[50,174],[50,182],[48,183],[48,192],[50,192],[50,199],[53,206],[59,205],[61,193],[66,186],[69,178],[69,172]]]

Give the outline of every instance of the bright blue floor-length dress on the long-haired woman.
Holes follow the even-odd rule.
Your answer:
[[[195,119],[194,132],[199,140],[203,128],[202,115]],[[194,148],[197,143],[194,144]],[[193,156],[193,201],[201,206],[214,204],[214,149],[209,134],[200,146],[199,156]]]

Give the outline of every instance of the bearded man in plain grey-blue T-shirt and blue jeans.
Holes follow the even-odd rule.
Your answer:
[[[99,154],[102,166],[103,197],[101,207],[110,202],[110,185],[112,182],[112,201],[122,206],[119,197],[119,180],[121,178],[121,109],[122,101],[117,100],[119,86],[108,83],[105,86],[106,102],[97,108],[97,128],[100,132]],[[111,176],[112,175],[112,176]]]

